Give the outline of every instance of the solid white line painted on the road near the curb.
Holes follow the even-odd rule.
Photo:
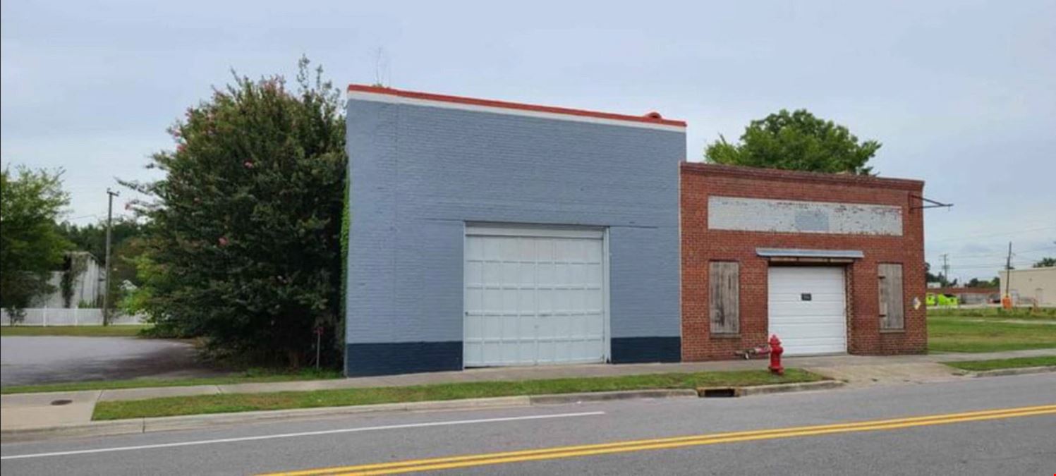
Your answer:
[[[127,452],[135,450],[153,450],[158,448],[194,446],[201,444],[270,440],[276,438],[297,438],[301,436],[334,435],[338,433],[374,432],[379,430],[420,429],[425,426],[447,426],[456,424],[498,423],[504,421],[545,420],[550,418],[590,417],[597,415],[605,415],[605,412],[582,412],[582,413],[564,413],[564,414],[551,414],[551,415],[529,415],[524,417],[480,418],[477,420],[430,421],[425,423],[404,423],[404,424],[389,424],[383,426],[361,426],[357,429],[323,430],[319,432],[282,433],[278,435],[246,436],[241,438],[220,438],[214,440],[180,441],[175,443],[140,444],[136,446],[99,448],[95,450],[74,450],[68,452],[11,455],[11,456],[0,456],[0,460],[6,461],[8,459],[46,458],[50,456],[88,455],[92,453]]]

